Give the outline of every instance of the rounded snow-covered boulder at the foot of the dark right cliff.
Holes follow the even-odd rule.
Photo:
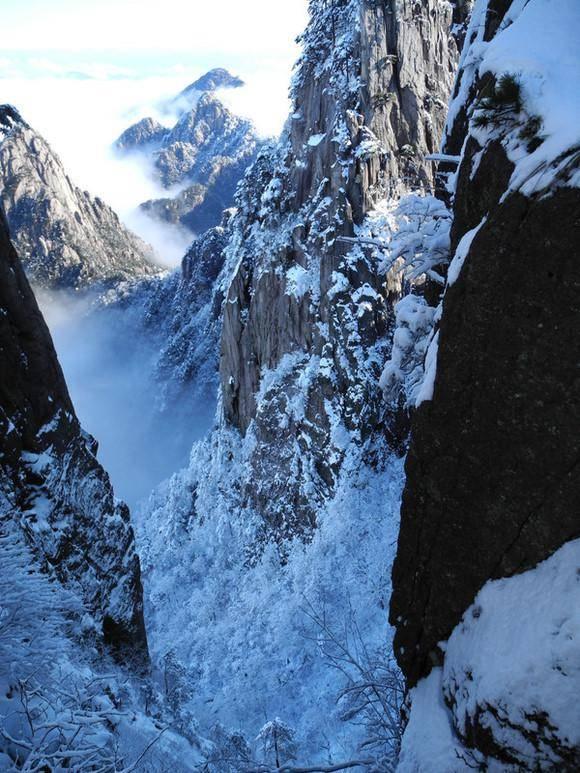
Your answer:
[[[580,746],[580,540],[534,569],[488,582],[446,647],[443,689],[461,733],[480,722],[522,764],[560,760],[548,741]],[[486,712],[497,707],[498,719]],[[535,717],[535,718],[534,718]],[[543,719],[544,717],[544,719]],[[526,739],[540,739],[539,750]]]

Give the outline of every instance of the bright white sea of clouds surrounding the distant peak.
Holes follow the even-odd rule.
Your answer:
[[[228,61],[226,61],[228,60]],[[0,103],[14,105],[60,156],[72,181],[100,196],[121,220],[155,249],[160,262],[178,265],[191,235],[139,211],[167,195],[144,157],[120,157],[115,139],[144,116],[172,125],[160,105],[208,69],[225,66],[245,81],[219,97],[250,118],[262,136],[279,134],[288,115],[291,56],[145,56],[14,52],[0,58]]]

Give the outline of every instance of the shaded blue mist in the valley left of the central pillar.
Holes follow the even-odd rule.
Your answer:
[[[132,508],[185,466],[211,427],[214,390],[194,392],[156,377],[162,342],[139,309],[94,307],[94,299],[36,289],[82,426],[115,493]],[[168,395],[171,399],[167,399]]]

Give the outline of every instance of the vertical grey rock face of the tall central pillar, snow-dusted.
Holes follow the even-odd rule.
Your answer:
[[[380,197],[431,186],[456,61],[448,3],[310,12],[282,141],[238,192],[220,364],[226,421],[256,437],[248,502],[277,533],[314,525],[345,437],[385,420],[369,385],[400,279],[341,239]]]

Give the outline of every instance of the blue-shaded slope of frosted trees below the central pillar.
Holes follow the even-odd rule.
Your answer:
[[[152,657],[161,663],[173,650],[187,666],[189,709],[205,737],[218,718],[250,739],[280,716],[296,729],[300,762],[352,759],[368,734],[340,719],[342,675],[320,651],[304,599],[337,621],[352,606],[368,650],[389,647],[402,463],[385,455],[371,469],[351,449],[312,542],[292,543],[283,567],[273,546],[248,566],[260,525],[239,504],[250,451],[225,430],[197,445],[190,468],[156,491],[137,519]]]

